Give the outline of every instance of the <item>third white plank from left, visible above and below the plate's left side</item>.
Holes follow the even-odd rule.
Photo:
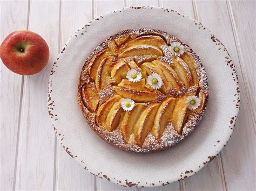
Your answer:
[[[91,1],[62,1],[60,6],[60,49],[66,41],[92,19]],[[60,51],[58,50],[58,52]],[[57,139],[56,190],[94,190],[95,176],[72,159]]]

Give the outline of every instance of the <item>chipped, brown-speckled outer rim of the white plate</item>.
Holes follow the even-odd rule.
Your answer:
[[[80,27],[80,29],[78,29],[77,31],[83,30],[85,26],[90,26],[90,24],[91,24],[92,22],[96,22],[96,20],[99,20],[100,18],[103,18],[103,16],[110,15],[110,14],[112,14],[112,13],[114,13],[114,12],[118,12],[118,11],[121,12],[122,10],[127,10],[127,9],[158,9],[158,10],[164,10],[164,11],[168,11],[168,12],[169,12],[169,11],[175,12],[175,13],[177,13],[179,16],[186,17],[186,18],[192,20],[193,22],[197,23],[197,24],[200,25],[201,27],[204,27],[204,28],[206,29],[206,31],[207,31],[208,33],[210,33],[211,37],[213,37],[214,40],[218,41],[218,42],[220,43],[220,45],[223,46],[224,51],[225,51],[225,54],[228,55],[229,58],[231,58],[231,56],[230,56],[230,54],[228,53],[226,47],[225,47],[225,46],[221,43],[221,41],[220,41],[218,38],[216,38],[216,37],[214,36],[214,34],[213,34],[207,27],[205,27],[203,24],[201,24],[200,22],[198,22],[197,20],[195,20],[195,19],[193,19],[193,18],[191,18],[191,17],[189,17],[189,16],[184,15],[183,13],[179,13],[178,11],[175,11],[175,10],[172,10],[172,9],[166,9],[166,8],[159,8],[159,7],[156,7],[156,6],[129,6],[129,7],[126,7],[126,8],[121,8],[121,9],[113,10],[113,11],[107,12],[107,13],[105,13],[105,14],[103,14],[103,15],[100,15],[100,16],[96,17],[95,19],[92,19],[90,22],[88,22],[88,23],[85,24],[84,26]],[[55,122],[56,122],[56,120],[55,120],[55,119],[56,119],[56,118],[55,118],[55,115],[52,114],[52,110],[53,110],[54,105],[52,105],[52,101],[53,101],[53,100],[52,100],[52,98],[51,98],[51,90],[52,90],[52,88],[51,88],[51,85],[52,85],[52,83],[51,83],[51,82],[52,82],[52,81],[51,81],[51,76],[55,73],[55,65],[56,65],[56,63],[57,63],[57,60],[60,58],[60,56],[61,56],[62,53],[64,52],[65,47],[68,45],[69,41],[70,41],[72,38],[74,38],[74,37],[76,36],[77,31],[76,31],[75,33],[73,33],[73,35],[68,39],[68,41],[67,41],[67,42],[65,43],[65,45],[63,46],[62,51],[60,51],[60,53],[58,54],[57,59],[56,59],[55,62],[53,63],[52,69],[51,69],[51,71],[50,71],[50,77],[49,77],[49,83],[48,83],[48,112],[49,112],[49,116],[50,116],[50,118],[51,118],[52,128],[53,128],[53,130],[55,131],[55,133],[56,133],[56,135],[57,135],[57,137],[58,137],[58,139],[59,139],[59,141],[60,141],[60,144],[63,146],[64,149],[65,149],[65,147],[64,147],[64,145],[63,145],[62,137],[60,137],[60,134],[59,134],[59,132],[58,132],[58,130],[57,130],[57,127],[56,127],[56,125],[55,125]],[[234,79],[234,81],[237,82],[235,86],[236,86],[237,92],[238,92],[238,95],[237,95],[238,100],[240,100],[239,83],[238,83],[237,70],[235,69],[235,65],[233,64],[233,61],[232,61],[232,60],[230,61],[230,63],[233,65],[233,67],[231,68],[231,70],[235,73],[235,79]],[[208,80],[209,80],[209,79],[208,79]],[[237,120],[238,112],[239,112],[239,109],[240,109],[240,101],[239,101],[239,102],[235,102],[234,104],[237,104],[237,107],[236,107],[235,110],[233,111],[233,112],[234,112],[234,114],[233,114],[234,117],[232,117],[233,122],[232,122],[232,124],[230,125],[230,126],[232,127],[232,132],[231,132],[231,134],[230,134],[230,137],[231,137],[231,135],[232,135],[232,133],[233,133],[233,130],[234,130],[235,121]],[[56,115],[56,116],[57,116],[57,115]],[[86,123],[87,123],[87,122],[86,122]],[[230,139],[230,138],[228,138],[228,140],[229,140],[229,139]],[[228,142],[228,140],[227,140],[227,142]],[[224,146],[225,146],[225,145],[223,145],[223,146],[220,147],[219,152],[218,152],[216,155],[211,156],[210,158],[208,157],[208,159],[207,159],[208,161],[205,162],[205,164],[203,164],[201,167],[197,168],[197,171],[193,171],[193,173],[196,174],[198,171],[200,171],[200,169],[202,169],[203,167],[205,167],[205,166],[206,166],[208,163],[210,163],[215,157],[217,157],[217,155],[218,155],[218,154],[220,153],[220,151],[224,148]],[[65,149],[65,151],[70,155],[71,158],[74,158],[74,159],[76,160],[76,157],[74,157],[74,156],[72,155],[72,151],[66,150],[66,149]],[[139,154],[139,153],[138,153],[138,154]],[[165,185],[169,185],[169,184],[172,183],[172,182],[176,182],[176,181],[179,181],[179,180],[184,180],[184,179],[186,179],[187,177],[190,177],[190,176],[184,176],[184,178],[177,179],[176,181],[172,181],[172,182],[160,182],[160,181],[159,181],[159,182],[151,183],[150,185],[142,185],[141,183],[140,183],[140,184],[133,183],[133,182],[127,180],[127,179],[126,179],[126,180],[122,180],[122,183],[117,183],[117,182],[114,182],[113,180],[111,180],[109,177],[107,177],[107,175],[105,175],[104,173],[102,173],[102,172],[101,172],[101,173],[95,173],[95,172],[92,172],[91,169],[90,169],[90,171],[89,171],[89,169],[87,169],[87,168],[84,166],[84,163],[82,163],[82,162],[80,162],[80,161],[78,161],[78,160],[76,160],[76,161],[79,163],[80,166],[82,166],[84,169],[86,169],[86,171],[90,172],[92,175],[95,175],[95,176],[97,176],[97,177],[99,177],[99,178],[106,179],[106,180],[108,180],[108,181],[110,181],[110,182],[113,182],[113,183],[116,183],[116,184],[119,184],[119,185],[122,185],[122,186],[125,186],[125,187],[154,187],[154,186],[165,186]],[[103,174],[104,174],[104,175],[103,175]],[[191,174],[191,175],[193,175],[193,174]]]

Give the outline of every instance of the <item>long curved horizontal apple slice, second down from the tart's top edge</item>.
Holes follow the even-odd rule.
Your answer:
[[[125,58],[135,55],[145,55],[145,54],[154,54],[163,56],[163,52],[160,48],[152,45],[134,45],[129,48],[126,48],[124,52],[120,53],[119,58]]]

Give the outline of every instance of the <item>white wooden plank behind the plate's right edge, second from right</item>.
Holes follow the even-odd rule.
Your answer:
[[[230,143],[221,151],[221,159],[225,172],[225,188],[231,190],[253,189],[255,188],[253,186],[255,174],[251,164],[255,160],[253,158],[253,153],[255,153],[255,133],[253,126],[255,126],[255,122],[253,121],[250,104],[248,104],[250,100],[246,96],[246,82],[242,77],[241,60],[239,60],[237,54],[231,17],[228,15],[229,10],[224,1],[197,1],[196,5],[200,21],[225,45],[235,66],[237,66],[239,77],[242,104],[240,105],[236,128],[230,139]],[[206,7],[211,9],[205,9]],[[245,12],[241,12],[241,14]],[[243,20],[242,22],[245,21]],[[226,143],[223,144],[226,145]]]

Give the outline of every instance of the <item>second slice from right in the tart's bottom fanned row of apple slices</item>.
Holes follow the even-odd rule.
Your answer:
[[[154,118],[154,125],[152,128],[152,135],[160,139],[169,122],[172,119],[173,109],[176,104],[176,98],[170,97],[163,101],[157,111],[156,118]]]

